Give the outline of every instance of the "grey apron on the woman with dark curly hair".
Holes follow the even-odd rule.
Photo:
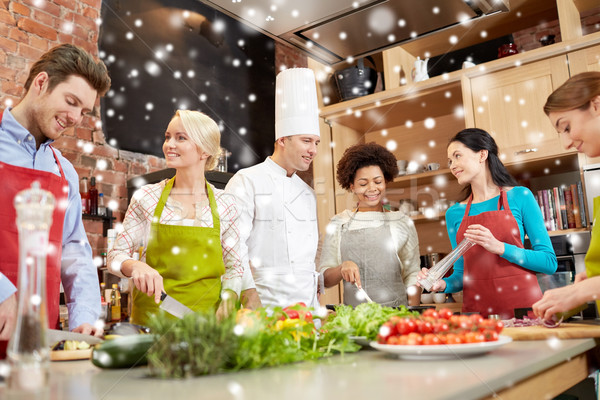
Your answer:
[[[406,286],[402,280],[402,265],[396,246],[389,246],[392,234],[387,222],[378,228],[349,230],[342,228],[340,253],[342,262],[358,265],[362,288],[371,300],[382,306],[408,305]],[[344,304],[356,306],[366,300],[357,298],[353,283],[344,281]]]

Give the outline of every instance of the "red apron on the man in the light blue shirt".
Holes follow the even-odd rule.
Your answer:
[[[2,112],[0,112],[0,123]],[[0,161],[0,272],[18,287],[19,275],[19,232],[16,224],[16,210],[13,205],[15,195],[31,187],[38,181],[42,189],[54,195],[56,207],[52,214],[49,245],[51,251],[46,258],[46,311],[48,326],[56,329],[59,322],[60,264],[62,234],[66,205],[69,201],[69,184],[56,152],[50,147],[60,170],[60,176],[52,172],[17,167]],[[0,358],[5,357],[6,341],[0,341]]]

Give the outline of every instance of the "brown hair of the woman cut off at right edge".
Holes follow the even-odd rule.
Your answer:
[[[544,105],[546,115],[551,112],[587,110],[594,97],[600,96],[600,72],[582,72],[559,86]]]

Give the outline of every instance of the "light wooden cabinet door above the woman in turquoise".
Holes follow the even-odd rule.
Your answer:
[[[492,134],[504,163],[566,152],[543,106],[568,77],[567,59],[560,56],[471,80],[475,126]]]

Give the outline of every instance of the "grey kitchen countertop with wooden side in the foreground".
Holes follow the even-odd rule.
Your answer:
[[[145,367],[101,370],[52,362],[45,398],[143,399],[503,399],[552,398],[588,376],[593,339],[522,341],[489,354],[408,361],[375,350],[315,362],[186,380],[148,378]],[[6,388],[0,386],[0,398]],[[9,397],[10,398],[10,397]],[[17,397],[22,398],[22,397]]]

